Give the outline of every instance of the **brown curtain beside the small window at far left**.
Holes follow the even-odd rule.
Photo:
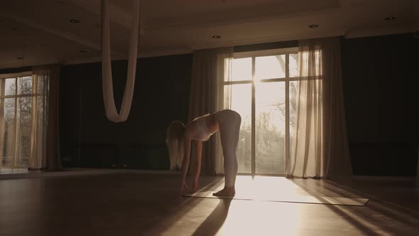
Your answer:
[[[58,171],[62,168],[58,136],[59,65],[33,67],[31,154],[29,169]]]

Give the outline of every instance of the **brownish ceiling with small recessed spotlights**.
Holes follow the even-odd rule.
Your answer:
[[[112,59],[127,58],[132,0],[108,3]],[[0,68],[100,61],[101,7],[102,0],[1,1]],[[396,19],[385,21],[388,16]],[[80,23],[70,23],[73,18]],[[319,27],[308,28],[311,24]],[[417,0],[141,0],[138,53],[151,57],[303,38],[379,36],[418,31],[418,26]]]

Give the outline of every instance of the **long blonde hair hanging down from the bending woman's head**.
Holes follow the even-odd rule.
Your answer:
[[[166,145],[169,149],[170,170],[180,170],[183,160],[183,130],[185,124],[179,121],[170,123],[166,133]]]

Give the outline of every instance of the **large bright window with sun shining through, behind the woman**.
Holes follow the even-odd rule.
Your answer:
[[[241,114],[239,173],[285,173],[298,91],[297,48],[235,53],[226,107]]]

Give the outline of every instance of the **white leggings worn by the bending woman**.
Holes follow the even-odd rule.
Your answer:
[[[232,187],[236,183],[238,170],[236,149],[239,142],[241,117],[239,113],[224,109],[215,114],[219,125],[222,154],[224,156],[225,186]]]

